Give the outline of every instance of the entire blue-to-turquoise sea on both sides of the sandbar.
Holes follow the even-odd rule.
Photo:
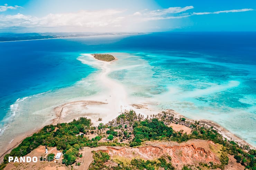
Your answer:
[[[19,126],[12,130],[17,134],[34,129],[37,125],[23,124],[29,120],[40,126],[54,106],[99,92],[93,78],[100,70],[77,60],[94,52],[114,52],[119,60],[109,77],[121,82],[135,101],[216,121],[256,146],[255,32],[0,43],[0,134],[14,128],[11,122]]]

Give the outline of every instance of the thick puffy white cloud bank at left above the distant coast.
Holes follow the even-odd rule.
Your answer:
[[[0,16],[0,27],[106,27],[112,24],[120,25],[124,17],[116,16],[117,10],[79,11],[76,13],[48,14],[37,18],[18,13],[17,15]]]

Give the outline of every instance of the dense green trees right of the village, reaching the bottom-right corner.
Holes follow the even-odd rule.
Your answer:
[[[164,116],[166,115],[164,114]],[[164,116],[161,120],[166,119]],[[181,119],[181,121],[185,120]],[[224,169],[229,161],[227,154],[230,154],[234,155],[237,162],[241,163],[247,169],[256,170],[256,150],[249,150],[247,153],[234,141],[229,142],[227,140],[223,140],[221,134],[216,130],[213,128],[202,127],[199,125],[199,122],[190,124],[190,127],[193,128],[193,132],[190,135],[186,133],[183,134],[181,132],[174,132],[172,128],[165,126],[164,122],[159,121],[158,119],[146,119],[145,121],[139,122],[135,121],[133,123],[133,127],[135,138],[130,143],[130,147],[139,146],[141,142],[147,140],[168,140],[176,142],[185,142],[190,139],[211,140],[214,143],[219,143],[223,146],[222,154],[220,156],[221,164],[210,164],[205,165],[205,167]]]

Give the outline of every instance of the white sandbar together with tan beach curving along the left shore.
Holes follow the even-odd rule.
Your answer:
[[[94,84],[100,86],[101,91],[91,96],[64,100],[66,102],[62,104],[56,105],[56,103],[53,103],[52,106],[48,108],[32,113],[28,119],[23,120],[21,116],[19,117],[19,115],[17,115],[17,118],[20,119],[14,119],[3,134],[5,138],[1,139],[1,155],[9,152],[24,138],[50,123],[70,122],[79,117],[87,117],[92,120],[94,126],[98,126],[99,123],[107,123],[115,119],[125,110],[132,109],[144,116],[157,114],[159,112],[157,109],[138,107],[144,106],[143,103],[136,103],[135,99],[128,98],[127,90],[124,85],[108,76],[109,73],[113,71],[111,65],[114,62],[97,60],[91,54],[82,54],[82,56],[85,56],[86,59],[78,58],[78,60],[100,70],[98,74],[94,75],[93,79],[95,81]],[[54,99],[49,98],[49,100]],[[40,116],[45,114],[44,118],[38,118],[35,121],[34,117],[38,114],[40,114]],[[102,121],[98,121],[99,118],[102,118]],[[21,126],[21,119],[22,123],[28,124],[29,127],[19,128],[19,126]],[[42,119],[45,119],[45,121]],[[34,121],[38,124],[31,123]]]

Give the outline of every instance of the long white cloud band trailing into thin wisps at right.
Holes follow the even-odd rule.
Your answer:
[[[8,7],[8,8],[7,8]],[[0,10],[20,8],[19,6],[0,6]],[[73,13],[47,14],[44,17],[35,17],[24,14],[0,14],[0,29],[31,28],[34,30],[53,29],[65,31],[141,31],[153,20],[180,19],[194,15],[219,14],[228,12],[244,12],[254,9],[223,10],[215,12],[189,12],[193,6],[170,7],[159,10],[142,10],[126,14],[120,10],[81,10]],[[62,28],[62,29],[60,29]]]

